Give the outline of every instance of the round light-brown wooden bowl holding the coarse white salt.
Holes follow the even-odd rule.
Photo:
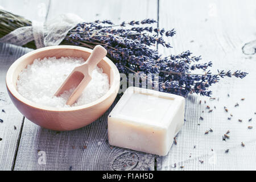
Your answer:
[[[16,81],[18,80],[19,73],[28,64],[32,64],[35,59],[53,56],[56,58],[71,56],[82,57],[86,60],[90,52],[92,52],[92,49],[78,46],[51,46],[36,49],[16,60],[7,72],[6,87],[11,100],[20,113],[36,125],[59,131],[79,129],[80,127],[89,125],[89,123],[92,123],[104,114],[117,96],[120,84],[118,69],[108,57],[104,57],[97,65],[103,69],[104,73],[108,74],[110,89],[104,96],[89,104],[68,108],[44,106],[27,100],[16,89]]]

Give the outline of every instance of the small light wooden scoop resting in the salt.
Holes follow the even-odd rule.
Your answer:
[[[86,62],[79,67],[73,69],[68,78],[60,86],[59,90],[55,93],[55,96],[60,96],[65,90],[76,88],[66,102],[67,105],[72,105],[76,102],[82,94],[82,91],[92,80],[92,71],[96,65],[106,56],[107,51],[104,47],[97,45],[94,47],[92,53],[86,60]]]

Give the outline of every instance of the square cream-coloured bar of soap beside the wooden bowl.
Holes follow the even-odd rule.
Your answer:
[[[184,97],[129,87],[108,117],[109,144],[164,156],[184,123]]]

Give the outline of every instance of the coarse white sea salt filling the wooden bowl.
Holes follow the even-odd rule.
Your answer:
[[[73,68],[83,64],[84,59],[77,57],[45,57],[34,62],[19,73],[16,82],[18,92],[36,104],[52,107],[70,107],[65,103],[73,89],[65,91],[59,97],[55,92],[65,81]],[[104,96],[109,90],[109,78],[101,68],[94,68],[92,80],[86,86],[82,95],[72,106],[85,105]]]

